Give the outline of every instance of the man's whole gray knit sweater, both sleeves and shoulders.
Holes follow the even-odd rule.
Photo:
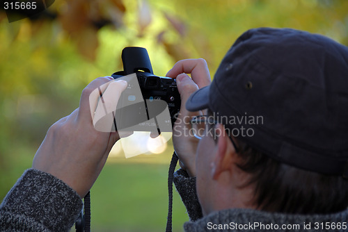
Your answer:
[[[187,232],[348,231],[347,210],[331,215],[286,215],[229,209],[202,217],[195,179],[189,178],[180,169],[175,173],[174,182],[191,218],[190,222],[184,224],[184,231]],[[0,206],[0,231],[69,231],[81,208],[81,198],[63,181],[50,174],[29,169],[3,199]],[[242,229],[238,227],[241,225]],[[282,229],[283,225],[292,226],[292,229]],[[304,226],[307,226],[306,229]],[[335,229],[325,229],[325,226]]]

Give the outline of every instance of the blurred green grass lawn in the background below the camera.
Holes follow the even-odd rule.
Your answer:
[[[129,159],[110,157],[91,189],[91,230],[164,231],[172,151],[173,147],[169,146],[164,154]],[[13,148],[13,156],[6,159],[9,166],[1,170],[0,202],[24,170],[31,167],[33,154],[33,149]],[[189,217],[173,188],[173,231],[183,231],[182,225]]]

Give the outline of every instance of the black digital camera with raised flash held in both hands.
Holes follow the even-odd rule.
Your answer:
[[[155,119],[152,123],[156,124],[159,133],[171,131],[181,103],[175,79],[153,74],[148,51],[142,47],[125,47],[122,63],[123,71],[111,75],[115,79],[127,78],[128,83],[118,101],[115,127],[136,126],[134,131],[151,131],[148,123]]]

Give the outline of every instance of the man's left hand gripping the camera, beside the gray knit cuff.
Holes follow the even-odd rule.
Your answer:
[[[110,86],[122,92],[127,87],[125,81],[111,80],[100,77],[86,86],[79,108],[49,128],[33,160],[34,169],[61,179],[81,198],[92,187],[113,144],[120,138],[117,132],[100,132],[93,127],[92,115],[100,100],[99,94],[91,94],[93,90],[100,87],[104,92]],[[104,97],[103,101],[115,99]]]

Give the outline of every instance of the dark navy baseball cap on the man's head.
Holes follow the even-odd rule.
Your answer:
[[[348,176],[348,48],[323,35],[246,31],[186,108],[229,117],[227,129],[251,129],[236,137],[280,162]]]

